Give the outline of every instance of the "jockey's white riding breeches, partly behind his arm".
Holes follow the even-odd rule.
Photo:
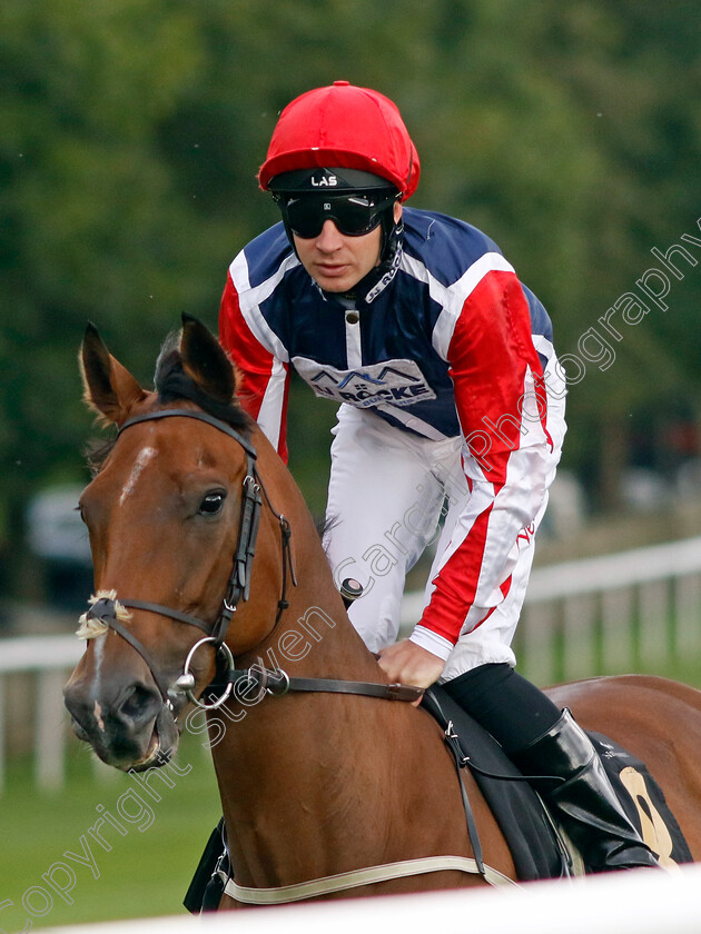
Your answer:
[[[349,617],[367,647],[377,652],[395,642],[406,574],[438,536],[424,606],[430,602],[431,582],[470,497],[461,466],[463,439],[421,438],[349,406],[339,408],[333,434],[324,544],[336,584],[354,577],[364,587]],[[505,562],[511,568],[507,595],[477,612],[483,622],[463,632],[444,679],[485,663],[515,665],[511,640],[533,563],[533,536],[546,501],[545,494],[535,520],[513,543],[512,560]],[[442,511],[445,520],[440,530]]]

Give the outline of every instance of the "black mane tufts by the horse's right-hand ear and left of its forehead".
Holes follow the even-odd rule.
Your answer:
[[[234,397],[228,401],[217,399],[206,393],[195,379],[186,372],[180,355],[180,332],[169,335],[160,348],[156,360],[156,372],[154,387],[158,394],[158,403],[168,405],[178,399],[188,399],[199,406],[207,415],[218,418],[230,425],[244,437],[248,437],[253,426],[251,417],[241,408],[238,399]],[[116,437],[105,441],[97,439],[89,441],[86,446],[85,456],[90,474],[96,476],[105,464],[109,453],[115,446]]]

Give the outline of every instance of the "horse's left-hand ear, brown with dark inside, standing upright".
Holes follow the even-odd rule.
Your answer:
[[[86,328],[78,362],[83,399],[106,421],[121,425],[134,405],[146,398],[129,370],[109,352],[95,325]]]

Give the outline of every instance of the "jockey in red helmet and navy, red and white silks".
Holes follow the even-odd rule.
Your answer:
[[[336,81],[283,110],[259,171],[282,213],[233,261],[220,338],[286,458],[290,367],[339,404],[325,547],[393,682],[445,690],[543,792],[594,871],[656,865],[584,731],[511,648],[565,434],[545,309],[498,247],[405,208],[419,160],[383,95]],[[421,619],[406,573],[436,544]],[[549,781],[542,776],[553,776]]]

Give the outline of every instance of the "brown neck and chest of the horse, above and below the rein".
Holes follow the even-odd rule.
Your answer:
[[[271,478],[275,510],[290,520],[298,583],[247,664],[259,655],[290,677],[386,682],[347,618],[294,480],[279,461],[261,463],[260,474]],[[266,535],[266,566],[279,566],[279,537]],[[279,590],[268,595],[266,613],[275,614],[278,598]],[[229,723],[215,715],[213,756],[239,884],[286,885],[464,852],[464,825],[446,811],[445,789],[460,806],[454,766],[437,755],[440,732],[423,712],[328,693],[264,695],[227,711]]]

